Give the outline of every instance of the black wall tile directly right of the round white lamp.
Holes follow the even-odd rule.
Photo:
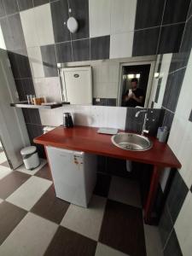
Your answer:
[[[78,32],[72,33],[72,39],[81,39],[90,37],[89,26],[89,0],[68,0],[69,8],[72,9],[70,15],[79,22]]]

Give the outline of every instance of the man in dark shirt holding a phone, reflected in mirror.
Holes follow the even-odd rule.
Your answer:
[[[143,90],[137,87],[138,79],[131,79],[131,90],[125,93],[125,106],[133,107],[143,106]]]

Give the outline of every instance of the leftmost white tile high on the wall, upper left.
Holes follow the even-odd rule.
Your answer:
[[[26,47],[38,46],[38,32],[34,9],[20,12],[20,20],[26,41]]]

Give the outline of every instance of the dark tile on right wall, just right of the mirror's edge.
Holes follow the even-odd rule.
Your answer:
[[[179,69],[177,72],[170,73],[166,82],[166,90],[162,106],[175,112],[180,90],[183,84],[185,69]]]

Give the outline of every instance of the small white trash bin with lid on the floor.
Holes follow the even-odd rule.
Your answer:
[[[22,148],[20,150],[20,154],[22,155],[23,162],[27,170],[33,170],[40,165],[37,147],[30,146]]]

